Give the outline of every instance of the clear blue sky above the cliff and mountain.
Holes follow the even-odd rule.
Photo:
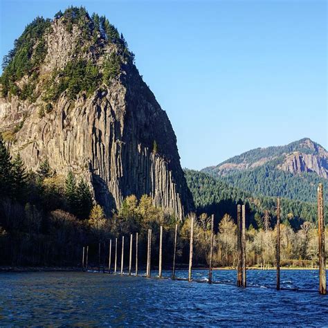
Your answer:
[[[1,57],[37,15],[106,15],[178,138],[183,167],[305,136],[327,148],[327,2],[1,1]]]

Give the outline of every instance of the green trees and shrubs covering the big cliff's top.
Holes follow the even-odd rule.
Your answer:
[[[61,19],[69,33],[73,26],[79,29],[78,43],[75,48],[75,60],[71,60],[61,71],[53,71],[51,78],[39,89],[44,89],[46,102],[56,101],[66,91],[69,99],[76,98],[81,91],[91,95],[101,84],[111,84],[120,75],[123,62],[134,62],[134,54],[129,52],[127,42],[118,33],[109,20],[97,14],[91,17],[83,7],[70,7],[64,12],[57,12],[55,19]],[[17,95],[21,100],[35,102],[39,94],[35,94],[39,82],[39,67],[47,53],[46,31],[51,30],[51,19],[37,17],[29,24],[24,33],[15,41],[15,47],[3,58],[3,74],[0,78],[3,96]],[[115,44],[116,50],[104,60],[102,68],[96,64],[96,59],[84,60],[82,54],[92,48],[95,57],[104,53],[104,44]],[[93,54],[94,57],[94,54]],[[27,76],[21,89],[17,82]],[[45,109],[48,113],[49,108]],[[41,111],[40,116],[43,117]]]

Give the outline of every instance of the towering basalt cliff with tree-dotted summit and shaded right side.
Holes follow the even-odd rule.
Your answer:
[[[72,8],[33,42],[46,49],[37,68],[1,80],[0,129],[12,153],[32,170],[47,158],[57,174],[84,176],[108,214],[130,194],[149,194],[180,219],[193,210],[170,120],[117,30]]]

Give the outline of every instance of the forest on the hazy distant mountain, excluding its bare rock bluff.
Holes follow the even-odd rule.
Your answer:
[[[322,183],[324,188],[328,188],[327,179],[321,178],[315,172],[291,174],[279,170],[277,167],[283,163],[284,154],[302,152],[303,154],[318,155],[320,148],[321,146],[317,143],[313,143],[309,138],[304,138],[286,146],[253,149],[230,158],[217,167],[208,167],[202,172],[218,177],[230,187],[248,191],[257,197],[284,197],[295,201],[315,202],[318,183]],[[221,175],[218,170],[218,167],[224,163],[252,165],[263,158],[268,161],[253,169],[231,170],[224,175]],[[328,201],[327,193],[325,200]]]

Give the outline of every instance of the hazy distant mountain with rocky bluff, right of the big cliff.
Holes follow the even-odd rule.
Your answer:
[[[328,152],[303,138],[285,146],[253,149],[201,171],[255,195],[312,202],[318,183],[328,188]]]

